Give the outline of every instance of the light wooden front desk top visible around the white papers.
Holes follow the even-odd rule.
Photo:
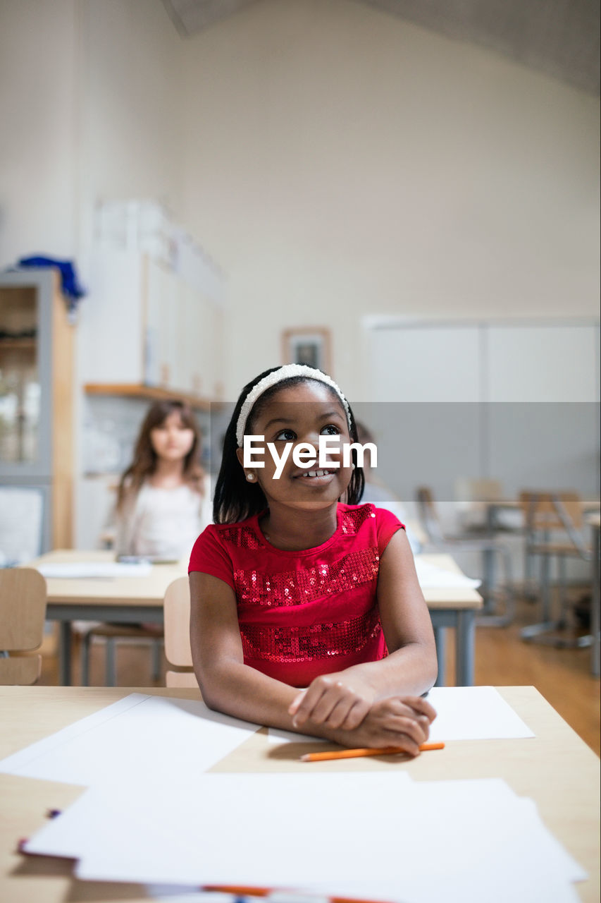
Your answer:
[[[536,734],[528,740],[466,740],[448,743],[441,755],[413,761],[347,759],[315,762],[315,771],[406,769],[414,780],[503,777],[521,796],[535,800],[550,831],[587,870],[589,879],[576,885],[585,903],[599,899],[599,760],[533,687],[499,687],[513,709]],[[79,718],[97,712],[129,693],[199,698],[198,691],[127,689],[125,687],[0,687],[0,758],[42,740]],[[303,744],[303,750],[307,746]],[[271,752],[271,755],[269,753]],[[277,755],[264,731],[212,768],[212,771],[287,771],[307,766],[298,744]],[[3,826],[0,834],[0,898],[10,903],[109,903],[146,899],[133,884],[80,881],[71,861],[23,857],[15,852],[20,838],[44,824],[50,808],[64,808],[82,792],[26,777],[0,775]]]

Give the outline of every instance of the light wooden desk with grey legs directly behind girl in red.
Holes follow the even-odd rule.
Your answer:
[[[424,561],[446,571],[461,573],[450,555],[421,555]],[[29,563],[110,562],[111,552],[82,552],[56,550]],[[148,621],[162,624],[162,600],[169,584],[185,575],[186,563],[153,564],[146,577],[95,579],[47,578],[47,617],[60,623],[60,683],[71,682],[71,621]],[[476,611],[482,608],[482,598],[469,588],[424,589],[424,598],[436,635],[439,655],[439,681],[444,680],[446,628],[456,628],[457,677],[459,686],[474,683],[474,647]]]

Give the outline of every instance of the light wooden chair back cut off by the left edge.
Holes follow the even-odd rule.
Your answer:
[[[0,570],[0,684],[35,684],[42,656],[12,656],[42,645],[46,581],[32,568]]]

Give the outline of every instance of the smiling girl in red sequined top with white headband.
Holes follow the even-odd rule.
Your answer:
[[[244,466],[245,435],[263,437],[254,461],[264,467]],[[339,437],[328,452],[339,467],[293,461],[297,445],[317,450],[325,435]],[[401,522],[359,504],[356,451],[343,458],[356,441],[347,399],[320,370],[289,364],[245,386],[215,523],[190,557],[194,667],[213,709],[415,756],[435,717],[421,698],[437,674],[430,614]],[[279,458],[291,445],[281,472],[268,442]]]

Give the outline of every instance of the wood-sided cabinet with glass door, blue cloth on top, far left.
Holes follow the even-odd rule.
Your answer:
[[[72,544],[74,326],[51,269],[0,274],[0,483],[42,490],[42,545]]]

